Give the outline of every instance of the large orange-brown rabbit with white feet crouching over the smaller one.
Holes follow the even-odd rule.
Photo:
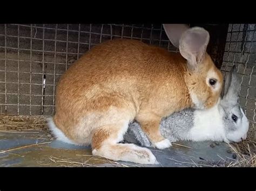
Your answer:
[[[93,47],[61,77],[53,134],[64,142],[92,146],[92,154],[111,160],[157,164],[152,152],[120,144],[134,119],[157,148],[171,146],[160,135],[161,118],[192,107],[217,103],[223,76],[206,47],[200,27],[164,25],[180,53],[137,40],[116,39]]]

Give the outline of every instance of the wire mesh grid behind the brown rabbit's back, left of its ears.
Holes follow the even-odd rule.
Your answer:
[[[162,25],[0,25],[1,113],[53,115],[59,76],[92,46],[113,38],[139,39],[177,51]]]

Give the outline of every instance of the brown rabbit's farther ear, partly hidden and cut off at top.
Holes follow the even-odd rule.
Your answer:
[[[165,33],[173,46],[179,47],[179,40],[181,34],[189,29],[188,25],[185,24],[163,24]]]

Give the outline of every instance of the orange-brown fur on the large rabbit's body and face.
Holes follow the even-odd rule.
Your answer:
[[[205,83],[210,68],[222,81],[208,55],[197,72],[187,68],[179,53],[137,40],[107,41],[84,54],[61,77],[53,120],[73,142],[92,143],[97,150],[114,131],[113,142],[120,141],[123,126],[134,118],[153,143],[159,142],[164,139],[159,133],[161,118],[194,106],[190,91],[205,101],[206,108],[217,102],[220,91],[212,93]]]

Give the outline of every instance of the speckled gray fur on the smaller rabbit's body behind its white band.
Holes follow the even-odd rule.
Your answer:
[[[171,142],[176,142],[187,135],[187,132],[194,124],[194,109],[184,109],[175,112],[171,116],[165,117],[160,123],[160,132]],[[138,144],[140,146],[151,147],[151,142],[140,128],[137,122],[129,125],[124,135],[124,142]]]

